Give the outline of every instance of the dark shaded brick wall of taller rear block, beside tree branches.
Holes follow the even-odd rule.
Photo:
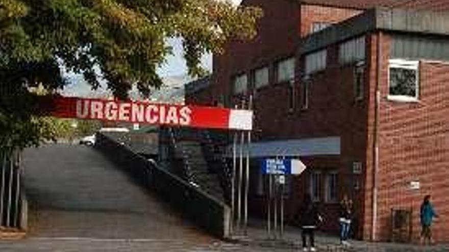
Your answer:
[[[273,63],[293,56],[300,43],[300,6],[297,2],[247,0],[243,4],[261,7],[264,16],[259,21],[258,35],[253,41],[230,41],[224,54],[214,55],[212,81],[215,97],[220,94],[230,97],[233,76],[250,74],[260,67],[269,67],[272,82]]]

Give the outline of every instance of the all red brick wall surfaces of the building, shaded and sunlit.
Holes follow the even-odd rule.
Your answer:
[[[379,127],[375,124],[377,75],[377,34],[367,35],[365,64],[365,94],[362,101],[354,99],[354,65],[337,64],[337,48],[328,52],[328,67],[312,76],[309,90],[309,108],[301,110],[301,77],[296,74],[291,95],[290,83],[275,83],[275,63],[297,55],[301,36],[310,32],[314,21],[334,22],[356,15],[356,10],[339,10],[329,7],[303,6],[293,1],[248,0],[247,5],[265,9],[260,21],[258,37],[248,43],[230,42],[223,55],[214,57],[214,99],[220,94],[230,95],[232,77],[250,74],[252,70],[269,66],[270,84],[254,92],[256,115],[255,140],[310,138],[322,136],[341,137],[341,155],[338,158],[301,157],[309,170],[338,170],[340,193],[352,192],[357,215],[361,222],[357,231],[363,238],[371,235],[372,173],[375,139],[379,152],[378,170],[378,225],[377,239],[387,240],[390,230],[391,208],[413,210],[413,238],[419,235],[419,205],[425,194],[433,195],[433,202],[441,218],[435,223],[437,240],[449,240],[447,212],[449,211],[449,139],[447,132],[449,109],[449,65],[422,62],[420,64],[420,99],[417,103],[398,103],[386,99],[388,93],[387,69],[389,37],[381,38],[381,66],[379,85],[381,91]],[[291,13],[291,15],[286,15]],[[280,21],[281,20],[281,21]],[[297,64],[300,72],[301,64]],[[446,87],[444,87],[444,85]],[[289,109],[292,97],[296,106]],[[231,99],[233,100],[233,99]],[[237,102],[237,99],[234,99]],[[375,136],[375,130],[379,134]],[[362,175],[352,174],[354,161],[363,163]],[[292,197],[287,211],[292,215],[300,204],[303,192],[308,189],[308,173],[293,181]],[[358,180],[360,189],[353,190]],[[419,190],[409,190],[411,181],[419,181]],[[323,185],[322,185],[323,186]],[[322,196],[323,198],[323,196]],[[262,199],[255,199],[259,204]],[[325,204],[328,220],[325,230],[336,230],[335,205]],[[263,207],[252,207],[263,209]],[[263,210],[262,210],[263,211]],[[262,214],[262,213],[261,213]]]

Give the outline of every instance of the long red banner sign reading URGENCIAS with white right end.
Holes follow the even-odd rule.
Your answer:
[[[242,109],[77,97],[46,97],[42,104],[47,115],[60,118],[236,130],[253,127],[253,111]]]

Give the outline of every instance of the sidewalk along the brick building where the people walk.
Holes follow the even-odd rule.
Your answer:
[[[271,227],[272,228],[272,227]],[[279,229],[279,227],[278,227]],[[266,222],[257,219],[251,219],[248,223],[247,235],[243,230],[236,231],[231,242],[244,244],[247,246],[272,247],[273,250],[302,251],[301,229],[293,226],[286,226],[284,234],[281,237],[278,233],[271,233],[268,237]],[[241,234],[241,235],[239,235]],[[433,246],[421,246],[417,244],[389,243],[389,242],[367,242],[350,241],[351,246],[343,247],[340,245],[339,237],[323,233],[315,235],[315,245],[318,251],[372,251],[372,252],[414,252],[414,251],[449,251],[448,244],[438,244]]]

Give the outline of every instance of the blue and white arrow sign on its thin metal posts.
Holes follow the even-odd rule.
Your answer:
[[[306,170],[306,165],[299,159],[285,159],[285,158],[268,158],[261,162],[261,172],[268,176],[268,202],[267,202],[267,235],[271,238],[271,212],[273,212],[273,238],[276,239],[278,232],[278,201],[280,201],[280,230],[279,234],[282,238],[284,235],[284,189],[285,176],[300,175]],[[272,183],[272,178],[274,182]],[[273,198],[273,192],[275,197]],[[271,211],[271,205],[273,210]]]

